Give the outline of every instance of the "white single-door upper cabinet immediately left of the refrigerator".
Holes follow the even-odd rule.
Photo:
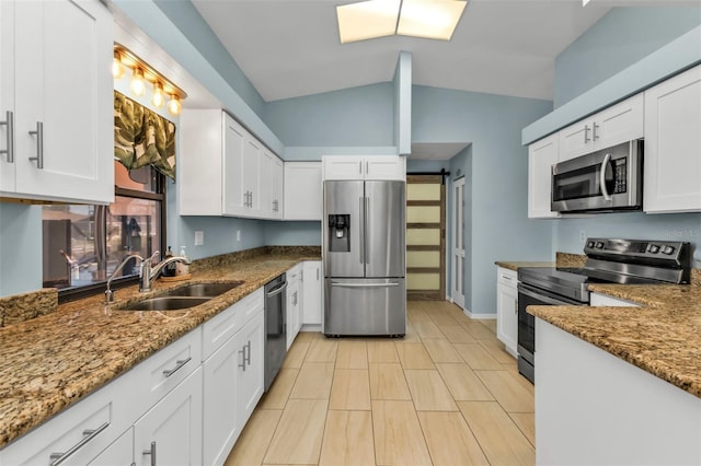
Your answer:
[[[321,220],[321,162],[285,162],[285,220]]]

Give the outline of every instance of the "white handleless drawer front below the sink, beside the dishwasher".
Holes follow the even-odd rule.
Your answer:
[[[203,326],[203,361],[239,331],[256,313],[263,312],[264,293],[258,288],[238,303],[210,318]]]

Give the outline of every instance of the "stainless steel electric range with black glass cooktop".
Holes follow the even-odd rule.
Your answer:
[[[518,371],[535,383],[536,318],[530,305],[589,304],[589,283],[689,283],[690,243],[589,238],[583,268],[518,269]]]

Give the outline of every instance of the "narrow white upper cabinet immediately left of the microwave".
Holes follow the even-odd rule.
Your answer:
[[[558,133],[528,147],[528,218],[560,217],[550,210],[552,165],[558,163]]]

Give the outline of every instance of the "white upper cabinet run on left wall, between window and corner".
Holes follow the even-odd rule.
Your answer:
[[[281,218],[283,162],[219,109],[180,118],[181,215]]]

